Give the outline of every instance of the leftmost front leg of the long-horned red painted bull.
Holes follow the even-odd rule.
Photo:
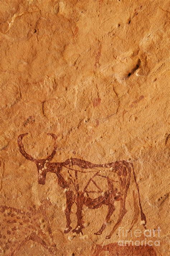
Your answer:
[[[64,230],[64,233],[69,233],[70,230],[72,229],[72,227],[70,226],[70,224],[71,224],[70,214],[71,214],[71,207],[74,204],[74,201],[75,201],[74,193],[71,190],[66,191],[65,215],[66,215],[67,225]]]

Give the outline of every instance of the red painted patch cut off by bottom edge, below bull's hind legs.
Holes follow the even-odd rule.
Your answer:
[[[105,255],[102,252],[107,252],[109,256],[156,256],[156,252],[152,246],[119,246],[117,243],[110,243],[105,246],[97,244],[95,251],[92,252],[92,256]]]

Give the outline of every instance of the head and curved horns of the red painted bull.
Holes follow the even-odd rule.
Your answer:
[[[34,162],[37,166],[38,171],[38,183],[44,185],[46,182],[46,174],[47,174],[47,163],[52,160],[52,158],[55,156],[56,149],[57,149],[57,136],[53,133],[48,133],[48,135],[52,136],[54,140],[54,149],[52,153],[44,159],[35,159],[32,156],[30,156],[28,153],[25,152],[24,145],[22,143],[22,139],[25,135],[28,133],[23,133],[18,136],[18,146],[20,153],[28,160]]]

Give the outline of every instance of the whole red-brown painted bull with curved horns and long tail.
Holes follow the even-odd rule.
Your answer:
[[[138,188],[138,184],[134,174],[132,163],[127,161],[116,161],[116,162],[105,163],[105,164],[94,164],[78,158],[70,158],[64,162],[51,162],[52,158],[55,156],[56,149],[57,149],[57,136],[52,133],[48,133],[48,135],[51,135],[54,140],[54,149],[52,153],[45,159],[35,159],[25,152],[25,149],[22,143],[23,137],[27,134],[28,133],[20,134],[18,136],[18,146],[19,146],[20,153],[26,159],[36,164],[37,170],[38,170],[38,183],[44,185],[46,181],[47,172],[53,172],[57,175],[58,184],[66,191],[65,215],[66,215],[67,225],[64,233],[68,233],[70,232],[70,230],[72,230],[70,214],[71,214],[71,207],[74,203],[76,203],[76,206],[77,206],[77,212],[76,212],[77,226],[75,229],[72,230],[72,232],[76,232],[77,234],[82,233],[82,229],[84,228],[83,216],[82,216],[82,207],[84,205],[89,207],[90,209],[99,208],[102,205],[108,206],[108,213],[104,220],[104,223],[101,226],[100,230],[95,233],[96,235],[101,235],[101,233],[105,229],[108,221],[110,220],[110,217],[112,216],[115,210],[115,206],[114,206],[115,201],[120,201],[120,210],[119,210],[118,220],[115,223],[110,234],[106,237],[106,238],[110,238],[113,232],[117,229],[117,227],[121,223],[124,215],[127,212],[125,208],[125,203],[126,203],[127,192],[129,189],[132,176],[134,177],[134,181],[137,188],[138,202],[139,202],[140,213],[141,213],[141,221],[143,223],[143,226],[146,228],[146,217],[142,211],[139,188]],[[62,172],[63,169],[67,170],[67,177],[66,175],[63,175],[63,172]],[[81,181],[79,181],[78,179],[79,173],[81,174],[83,173],[87,175],[85,178],[85,185],[83,188],[81,188],[81,185],[83,183],[82,179]],[[90,176],[90,178],[87,178],[89,173],[92,174],[92,176]],[[117,187],[113,185],[115,183],[113,183],[113,180],[110,178],[110,175],[108,173],[112,173],[117,176],[117,181],[115,181],[118,184]],[[98,185],[96,181],[96,179],[99,179],[99,178],[103,179],[102,183],[103,182],[106,183],[107,189],[103,192],[100,189],[100,185]],[[95,193],[99,193],[100,196],[96,198],[89,197],[89,193],[94,192],[93,190],[88,190],[88,187],[90,187],[90,184],[95,185],[95,187],[98,189],[98,191],[95,191]]]

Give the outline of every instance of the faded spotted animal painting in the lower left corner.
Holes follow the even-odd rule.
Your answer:
[[[57,255],[53,242],[52,230],[46,215],[47,201],[36,210],[29,211],[0,205],[0,253],[1,255],[18,255],[19,250],[28,241],[41,244],[52,255]]]

